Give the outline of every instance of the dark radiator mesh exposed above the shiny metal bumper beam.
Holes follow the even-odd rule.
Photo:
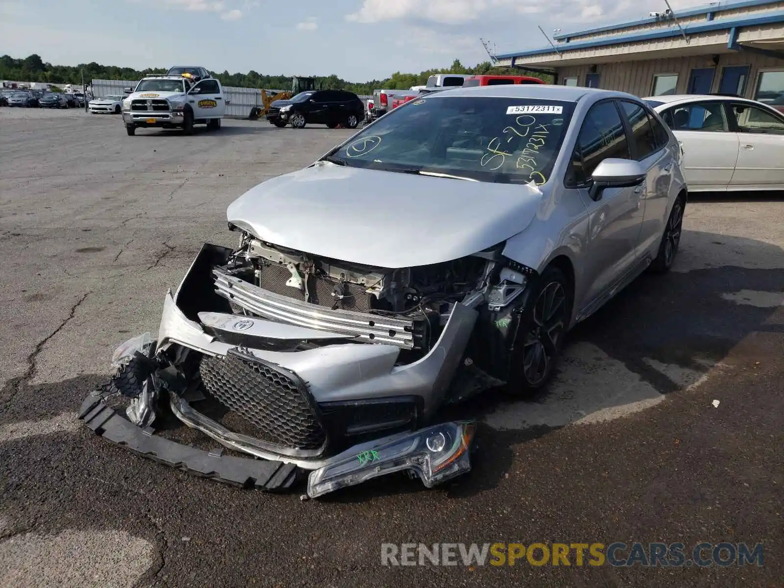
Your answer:
[[[286,285],[286,282],[291,277],[291,272],[285,266],[266,265],[261,268],[260,286],[281,296],[304,300],[305,295],[303,292]],[[337,281],[325,276],[310,276],[307,285],[311,303],[328,308],[332,308],[335,305],[337,299],[335,296],[332,296],[332,292],[337,285]],[[363,285],[344,282],[343,296],[346,297],[340,299],[336,308],[340,310],[354,310],[355,312],[367,312],[370,310],[370,295],[365,290],[366,287]]]

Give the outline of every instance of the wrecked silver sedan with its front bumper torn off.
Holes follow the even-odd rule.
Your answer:
[[[183,463],[143,432],[165,390],[187,426],[314,470],[311,496],[403,469],[437,484],[470,468],[474,431],[433,425],[438,408],[543,387],[570,328],[644,270],[672,267],[687,196],[677,140],[634,96],[420,97],[234,201],[238,246],[203,245],[157,339],[115,354],[107,390],[132,398],[136,433],[107,424],[95,397],[82,416]]]

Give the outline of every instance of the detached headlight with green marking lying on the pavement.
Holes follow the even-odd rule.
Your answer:
[[[474,421],[458,421],[357,445],[311,472],[307,495],[316,498],[402,470],[419,476],[432,488],[471,469],[469,449],[475,430]]]

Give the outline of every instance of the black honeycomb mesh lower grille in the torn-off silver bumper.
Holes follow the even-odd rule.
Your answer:
[[[256,437],[296,449],[318,449],[326,434],[306,385],[293,373],[229,351],[199,367],[209,394],[252,423]]]

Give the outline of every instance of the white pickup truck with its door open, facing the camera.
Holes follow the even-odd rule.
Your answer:
[[[129,96],[122,101],[122,121],[131,136],[150,127],[181,128],[186,135],[198,124],[217,130],[226,114],[226,97],[215,78],[194,84],[191,76],[151,75],[125,93]]]

